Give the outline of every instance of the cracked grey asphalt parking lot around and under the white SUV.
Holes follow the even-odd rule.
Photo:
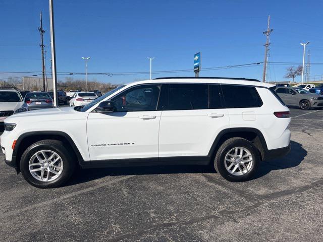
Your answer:
[[[322,241],[323,110],[291,114],[291,153],[245,183],[155,166],[80,170],[41,190],[0,155],[0,241]]]

